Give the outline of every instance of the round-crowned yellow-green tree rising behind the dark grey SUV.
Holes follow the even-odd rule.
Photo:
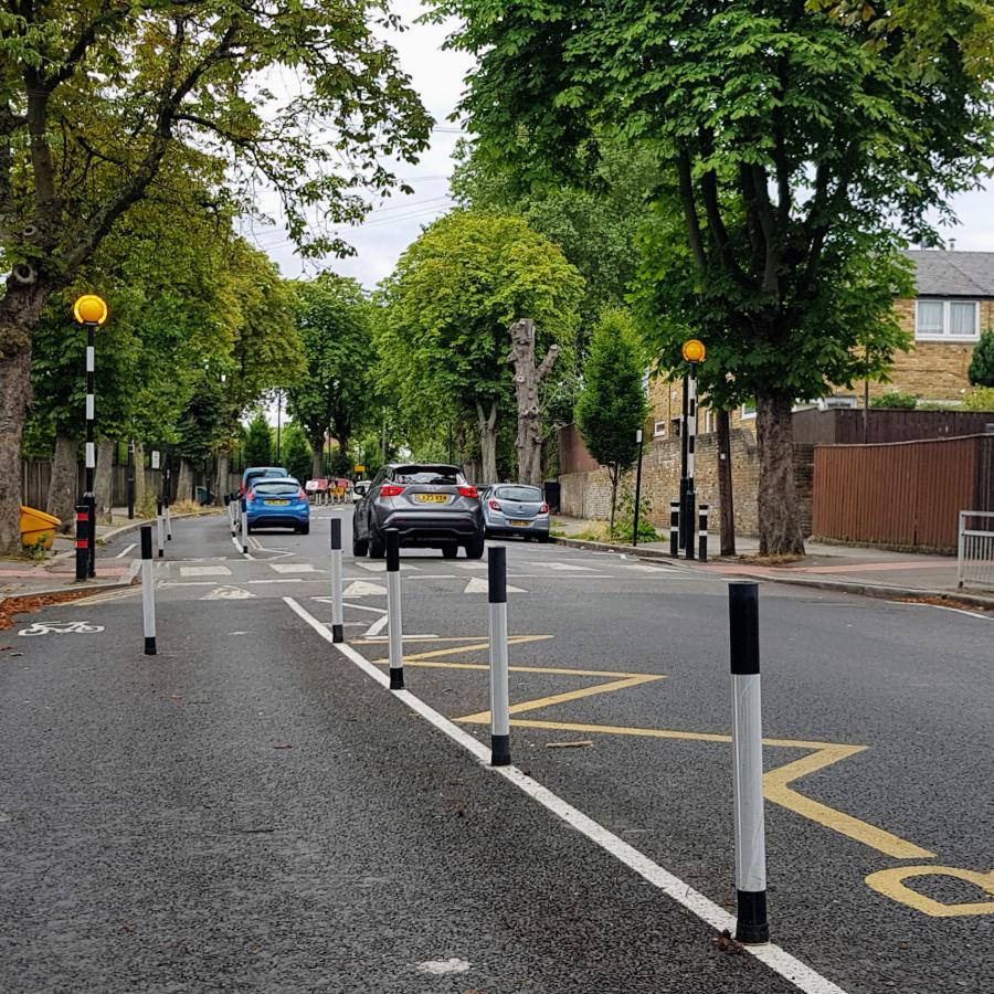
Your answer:
[[[432,224],[385,281],[379,351],[389,382],[415,416],[475,417],[484,482],[497,479],[511,322],[535,320],[537,355],[553,341],[569,348],[582,292],[575,268],[522,219],[469,211]]]

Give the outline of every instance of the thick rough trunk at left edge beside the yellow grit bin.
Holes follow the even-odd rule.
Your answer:
[[[0,556],[21,551],[21,434],[31,401],[31,347],[4,353],[0,326]]]

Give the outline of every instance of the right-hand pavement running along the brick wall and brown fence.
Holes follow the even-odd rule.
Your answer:
[[[623,549],[618,543],[585,542],[575,536],[595,524],[580,518],[554,516],[553,541],[591,549]],[[708,562],[694,568],[729,577],[794,583],[822,590],[878,598],[937,598],[954,600],[983,610],[994,610],[994,589],[959,586],[954,556],[892,552],[865,546],[805,542],[804,557],[776,563],[759,556],[759,539],[737,536],[733,557],[718,554],[718,536],[709,536]],[[639,542],[634,552],[644,558],[670,560],[669,541]]]

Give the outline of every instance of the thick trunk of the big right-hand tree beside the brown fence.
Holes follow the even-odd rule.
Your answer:
[[[793,399],[785,393],[757,393],[755,396],[760,556],[804,553],[794,485],[792,405]]]

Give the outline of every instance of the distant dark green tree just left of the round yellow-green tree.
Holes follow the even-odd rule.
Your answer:
[[[304,368],[287,392],[288,410],[307,436],[319,477],[326,433],[348,455],[362,416],[376,408],[373,305],[355,279],[335,273],[297,283],[294,292]]]

